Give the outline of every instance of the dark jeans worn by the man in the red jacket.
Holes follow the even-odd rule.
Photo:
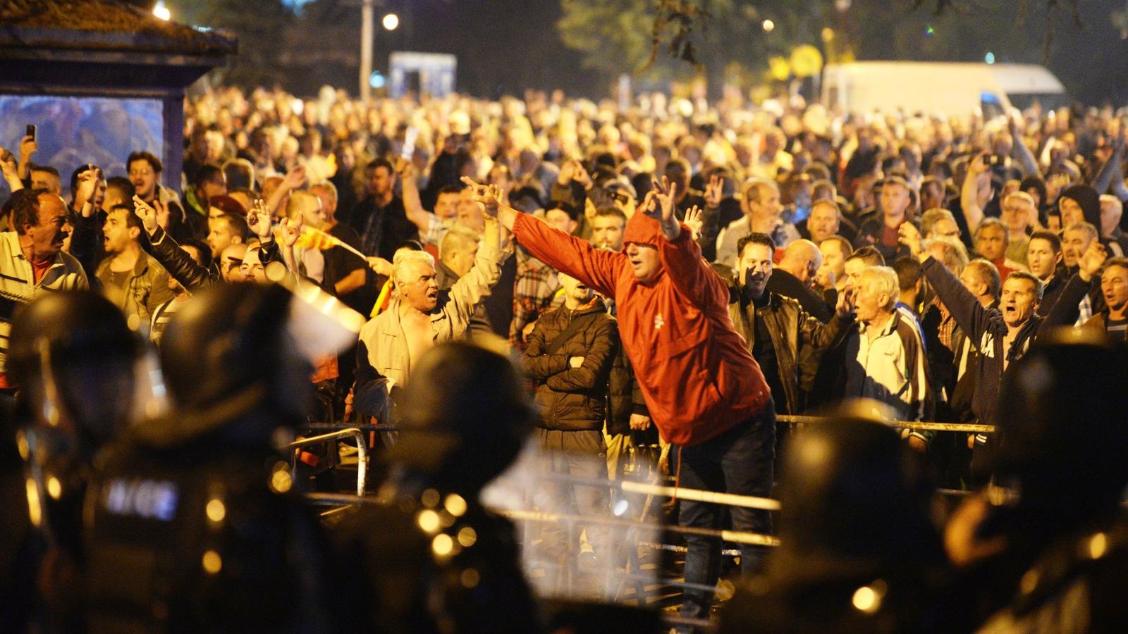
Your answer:
[[[769,403],[764,412],[721,435],[700,444],[679,448],[680,486],[768,497],[775,464],[775,408]],[[678,504],[678,523],[681,526],[722,528],[723,505],[689,500],[679,500]],[[768,511],[729,507],[728,512],[733,530],[761,535],[772,532]],[[721,539],[687,535],[686,547],[686,582],[715,585],[721,573]],[[766,552],[764,546],[741,545],[741,572],[744,575],[756,572]],[[708,618],[712,601],[711,590],[686,589],[681,616]]]

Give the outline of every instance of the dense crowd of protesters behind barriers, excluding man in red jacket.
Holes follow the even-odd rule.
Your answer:
[[[1055,327],[1128,336],[1128,122],[1108,107],[985,121],[731,94],[641,95],[625,109],[537,91],[362,104],[328,87],[315,99],[219,88],[185,106],[179,178],[148,152],[123,157],[123,174],[59,174],[35,162],[34,138],[5,140],[0,274],[26,291],[6,287],[6,300],[99,289],[159,344],[194,293],[276,280],[276,266],[370,318],[317,362],[316,421],[395,424],[425,350],[492,333],[520,356],[562,470],[620,477],[633,451],[678,443],[655,434],[613,298],[531,255],[491,204],[624,252],[645,280],[625,229],[669,200],[778,414],[869,398],[898,421],[994,425],[1008,368]],[[695,316],[653,318],[659,331]],[[670,354],[704,345],[682,343]],[[791,425],[778,430],[786,446]],[[951,488],[999,464],[990,433],[906,426],[900,442]],[[783,467],[776,481],[802,468]],[[579,488],[582,511],[607,509]],[[588,555],[606,548],[598,530],[584,539]]]

